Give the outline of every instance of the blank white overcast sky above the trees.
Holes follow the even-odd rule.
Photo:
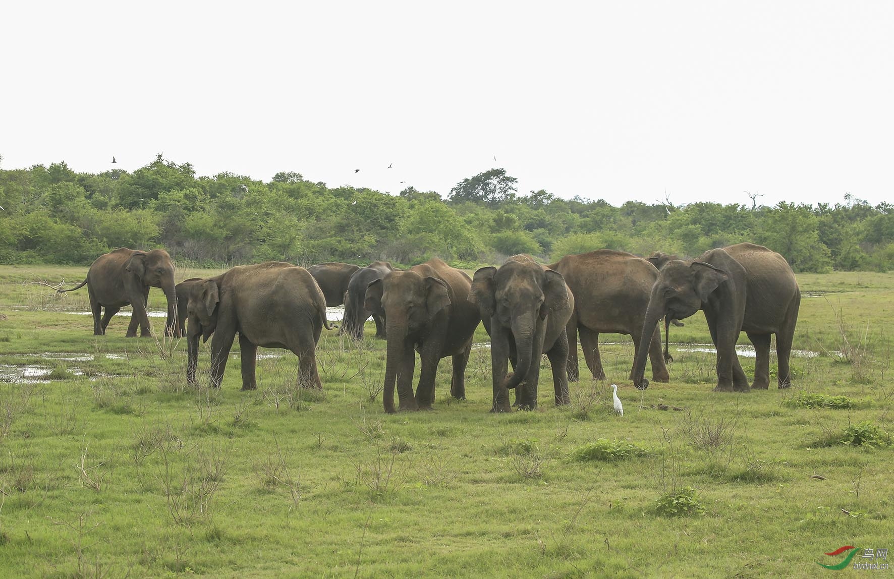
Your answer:
[[[521,194],[614,205],[894,199],[890,0],[88,0],[0,16],[5,169],[132,171],[164,153],[201,175],[393,194],[446,196],[502,167]]]

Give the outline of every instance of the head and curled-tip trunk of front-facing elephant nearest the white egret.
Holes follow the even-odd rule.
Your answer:
[[[510,329],[515,340],[518,363],[515,371],[502,384],[503,389],[516,388],[532,364],[539,364],[538,326],[553,310],[569,304],[568,286],[561,273],[544,269],[533,260],[510,258],[498,270],[482,267],[472,280],[469,300],[477,304],[481,317]],[[492,346],[493,347],[493,346]],[[505,399],[502,394],[500,399]]]

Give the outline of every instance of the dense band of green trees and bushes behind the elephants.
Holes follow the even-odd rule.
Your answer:
[[[299,172],[265,182],[197,176],[157,155],[134,172],[74,172],[64,162],[0,169],[0,263],[89,264],[119,247],[168,250],[178,263],[375,259],[412,265],[438,256],[460,267],[528,253],[544,261],[598,248],[698,256],[753,241],[796,272],[894,269],[894,206],[845,195],[831,206],[652,205],[519,195],[503,169],[461,180],[443,198],[329,187]]]

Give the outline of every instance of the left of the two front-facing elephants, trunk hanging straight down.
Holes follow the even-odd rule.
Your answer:
[[[472,280],[438,258],[394,271],[370,282],[364,307],[384,315],[387,355],[382,399],[385,412],[394,412],[394,382],[400,410],[430,409],[438,362],[453,357],[451,395],[466,398],[465,372],[472,334],[481,321],[478,308],[468,301]],[[416,396],[413,373],[416,354],[422,367]]]

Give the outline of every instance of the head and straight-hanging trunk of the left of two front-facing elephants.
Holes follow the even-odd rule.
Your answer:
[[[450,293],[443,280],[414,271],[392,272],[367,286],[364,307],[385,317],[388,345],[383,401],[386,412],[394,412],[395,381],[399,391],[412,393],[415,344],[425,335],[434,317],[451,306]]]

